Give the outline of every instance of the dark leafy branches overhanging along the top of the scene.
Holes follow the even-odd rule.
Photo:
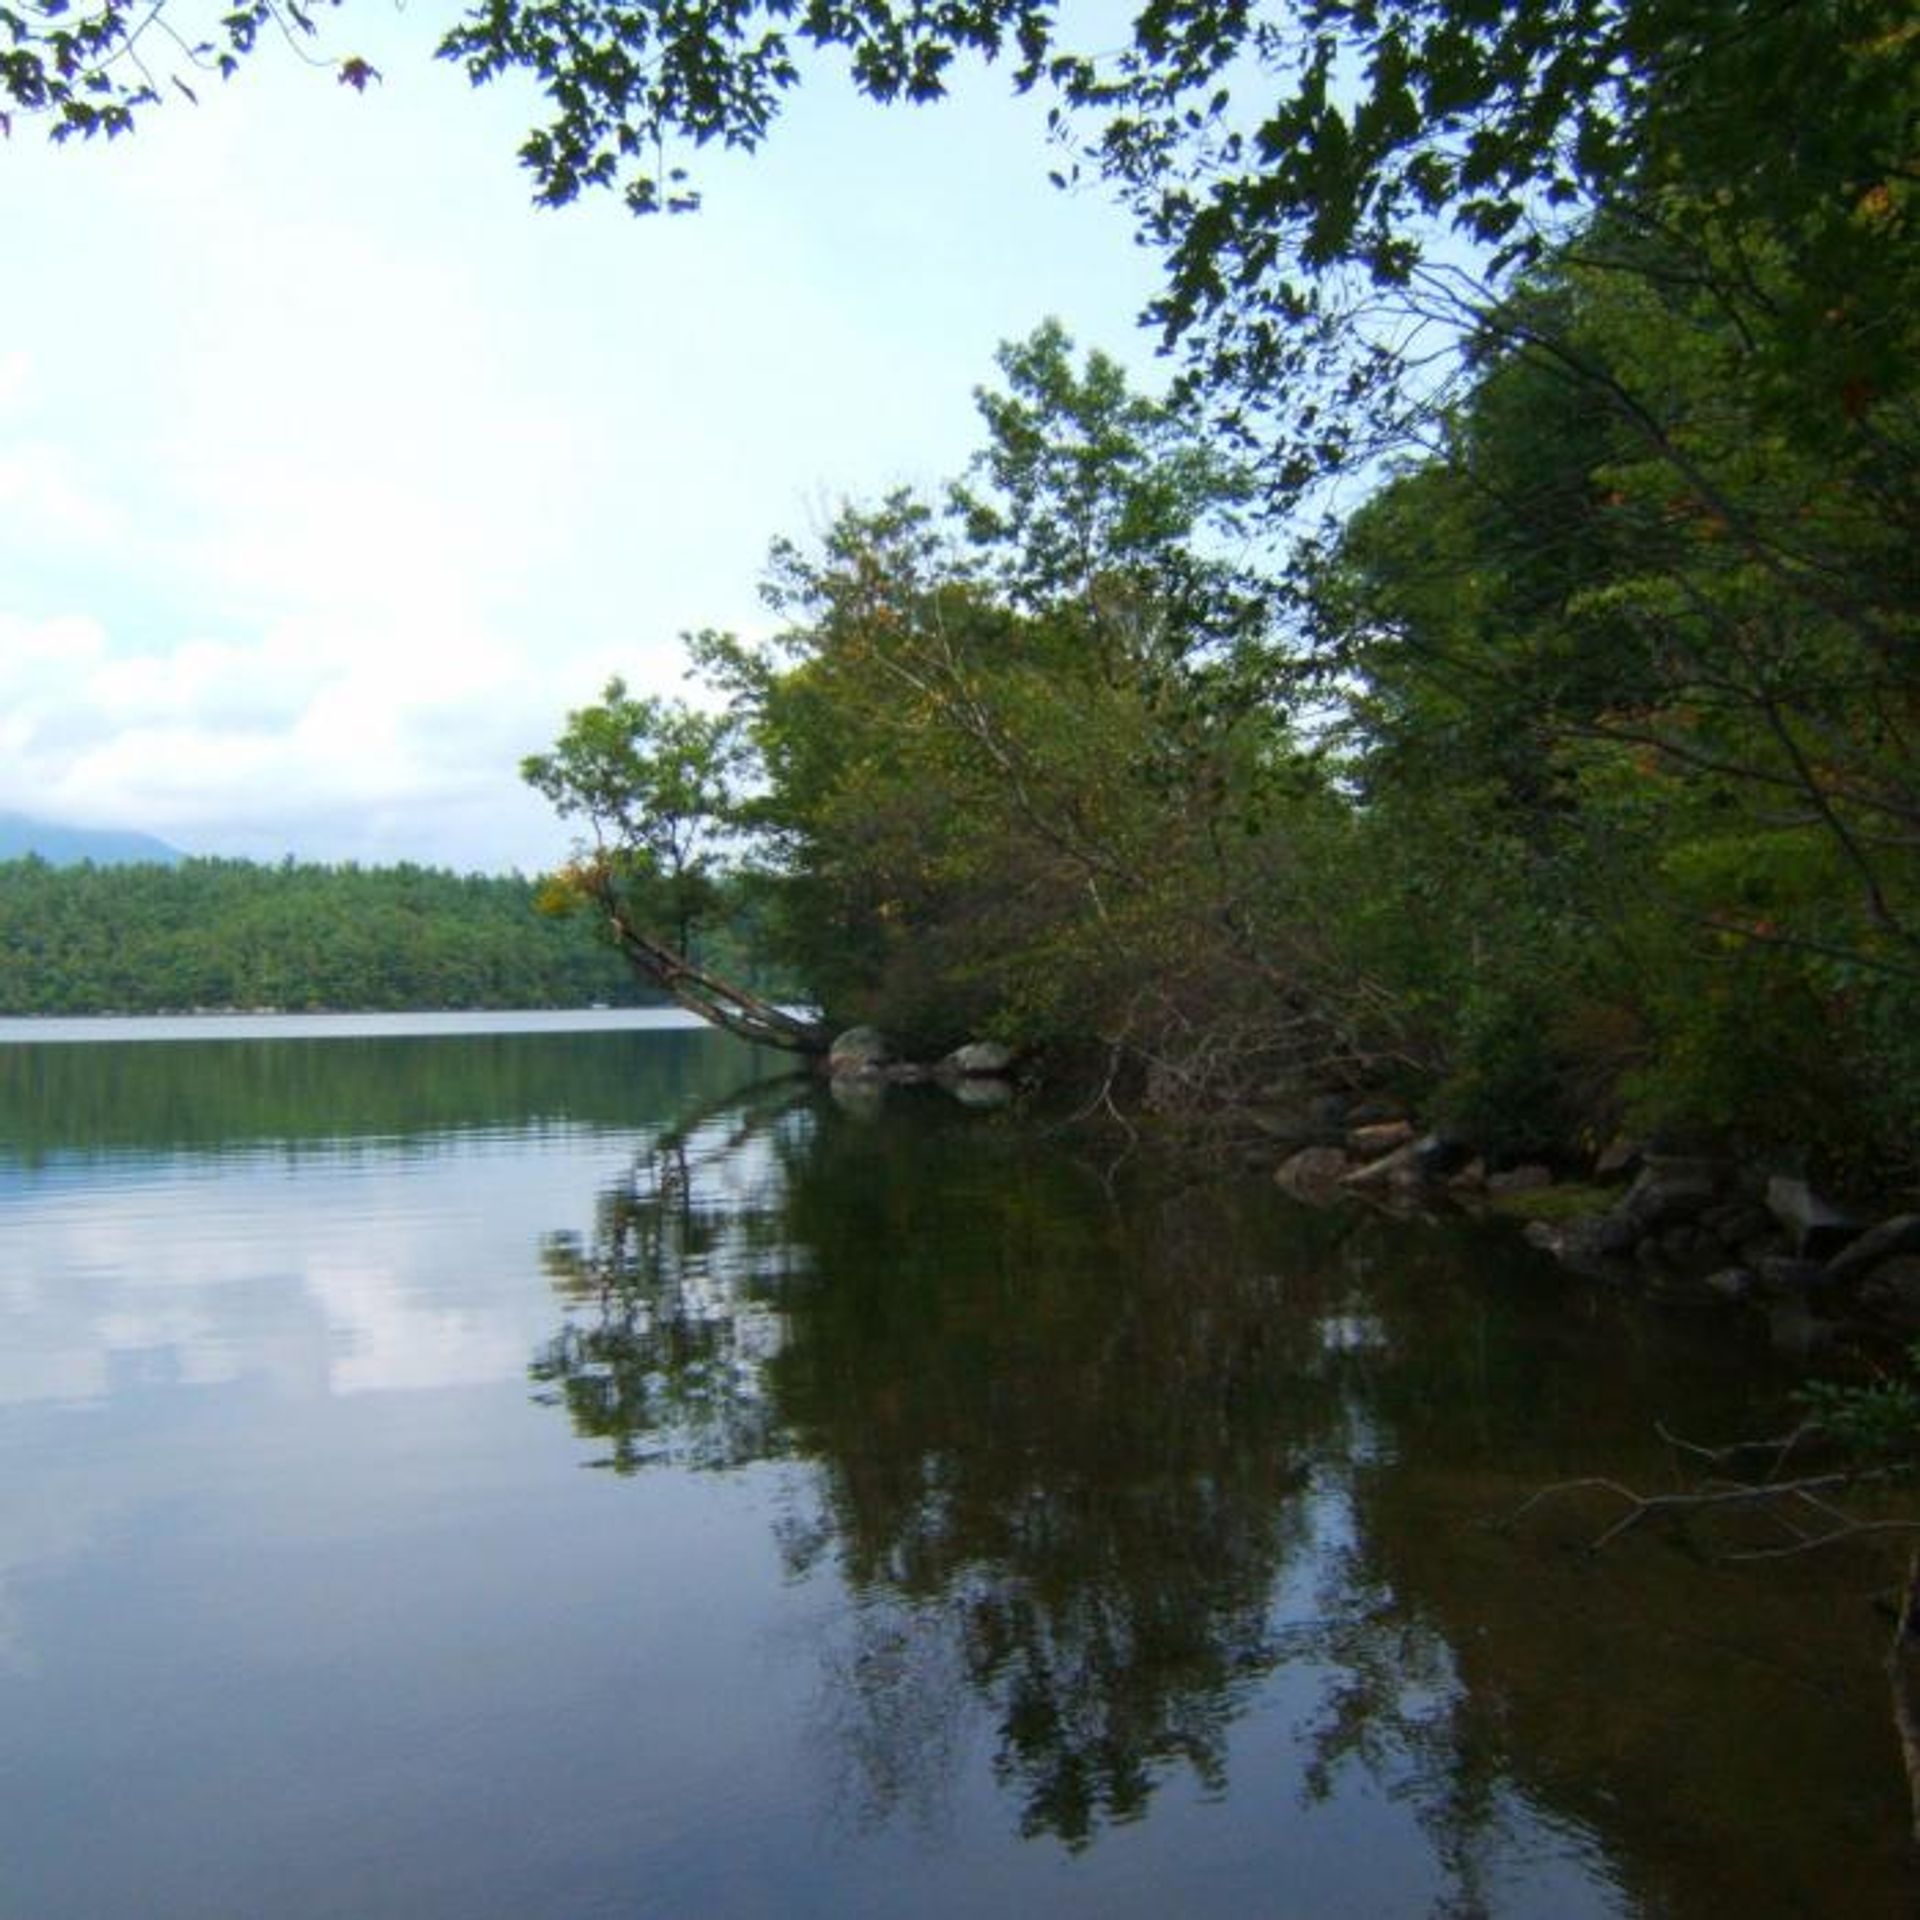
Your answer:
[[[157,46],[225,75],[269,31],[313,33],[298,0],[246,0],[198,40],[167,0],[79,19],[10,0],[0,25],[0,98],[56,132],[132,125],[159,98]],[[1836,374],[1897,367],[1866,290],[1887,242],[1912,238],[1901,0],[1140,0],[1098,50],[1043,0],[488,0],[440,52],[476,84],[524,73],[545,90],[553,115],[522,146],[538,200],[618,188],[637,211],[697,205],[674,156],[756,148],[808,65],[843,63],[876,102],[927,102],[956,61],[1002,60],[1016,88],[1054,94],[1079,163],[1165,250],[1162,323],[1206,334],[1213,374],[1256,409],[1275,405],[1275,372],[1336,349],[1317,323],[1356,300],[1452,311],[1450,232],[1498,284],[1596,211],[1707,257],[1764,209],[1803,267],[1788,330],[1824,342]],[[365,63],[342,77],[363,84]],[[1388,338],[1371,328],[1350,357],[1361,386],[1396,357]]]

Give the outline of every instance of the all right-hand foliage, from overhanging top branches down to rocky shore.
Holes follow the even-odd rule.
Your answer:
[[[1912,1169],[1910,10],[1187,0],[1091,60],[1023,6],[612,8],[632,86],[555,19],[463,36],[578,83],[549,198],[758,140],[789,33],[881,98],[1004,40],[1167,263],[1156,432],[1029,346],[983,499],[845,516],[780,660],[703,647],[829,1004]],[[1144,472],[1225,492],[1142,553],[1087,505]],[[1271,551],[1223,582],[1229,507]]]

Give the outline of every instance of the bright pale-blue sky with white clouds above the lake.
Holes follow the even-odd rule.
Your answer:
[[[522,755],[678,636],[764,632],[768,541],[956,474],[1002,340],[1156,384],[1150,255],[998,75],[812,81],[697,215],[530,205],[528,90],[434,23],[323,27],[111,146],[0,142],[0,810],[196,854],[538,872]]]

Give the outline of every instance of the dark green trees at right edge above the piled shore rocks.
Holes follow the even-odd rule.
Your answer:
[[[1463,1117],[1538,1142],[1624,1104],[1899,1167],[1908,428],[1880,403],[1839,444],[1786,419],[1718,301],[1596,267],[1609,246],[1596,230],[1513,301],[1580,376],[1521,340],[1482,351],[1434,455],[1317,580],[1371,872],[1404,860],[1371,950],[1390,975],[1382,937],[1423,954],[1398,977],[1438,989]]]

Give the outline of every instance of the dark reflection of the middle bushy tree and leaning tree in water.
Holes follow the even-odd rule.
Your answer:
[[[824,1718],[858,1816],[937,1816],[985,1711],[1021,1830],[1083,1845],[1175,1764],[1223,1786],[1323,1419],[1231,1215],[914,1117],[787,1094],[660,1139],[547,1244],[532,1373],[618,1473],[812,1465],[781,1549],[856,1601]]]

